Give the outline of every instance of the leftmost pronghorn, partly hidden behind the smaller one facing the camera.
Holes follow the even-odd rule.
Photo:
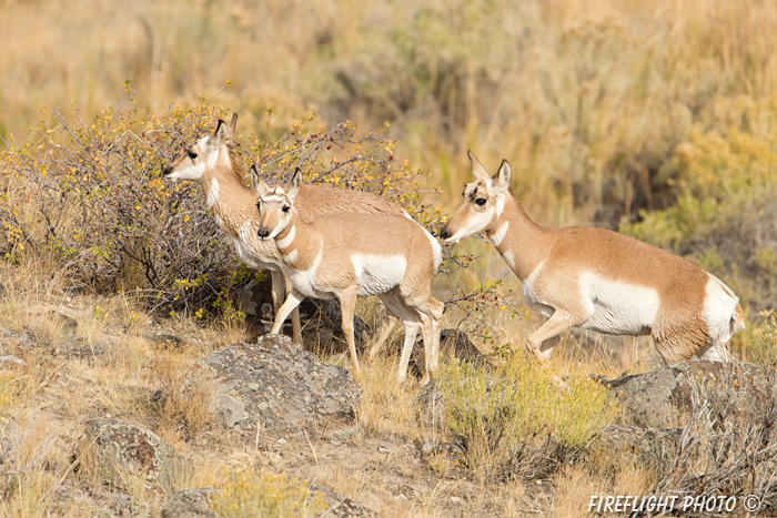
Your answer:
[[[256,237],[259,216],[256,194],[245,186],[232,149],[238,114],[228,125],[219,120],[215,131],[188,148],[181,156],[164,170],[171,180],[193,180],[200,183],[219,226],[233,240],[238,256],[245,264],[269,270],[272,276],[272,297],[275,312],[281,306],[284,290],[289,288],[281,270],[281,255],[273,243]],[[252,167],[252,174],[255,170]],[[256,176],[258,177],[258,176]],[[256,179],[252,179],[254,184]],[[404,216],[407,213],[397,204],[361,191],[346,191],[325,186],[306,185],[300,193],[297,209],[301,217],[312,220],[337,212],[385,213]],[[294,339],[300,338],[300,313],[292,314]]]

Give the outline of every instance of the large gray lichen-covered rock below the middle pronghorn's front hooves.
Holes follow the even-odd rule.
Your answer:
[[[202,358],[189,383],[216,382],[213,412],[230,428],[299,428],[330,420],[352,423],[361,388],[347,370],[322,363],[291,338],[263,335]]]

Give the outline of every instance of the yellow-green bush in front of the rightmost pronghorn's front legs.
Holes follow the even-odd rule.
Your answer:
[[[481,478],[548,476],[615,418],[604,388],[573,378],[559,393],[551,373],[522,355],[493,374],[444,365],[438,384],[464,463]]]

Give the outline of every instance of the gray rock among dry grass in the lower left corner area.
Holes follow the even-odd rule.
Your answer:
[[[157,434],[117,419],[92,419],[75,447],[79,469],[93,469],[97,478],[122,487],[128,475],[142,476],[150,489],[170,491],[191,463]]]

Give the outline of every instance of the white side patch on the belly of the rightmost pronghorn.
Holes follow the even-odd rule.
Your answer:
[[[602,277],[581,276],[583,303],[592,315],[581,327],[610,335],[639,335],[653,327],[660,307],[658,292],[652,287]]]

